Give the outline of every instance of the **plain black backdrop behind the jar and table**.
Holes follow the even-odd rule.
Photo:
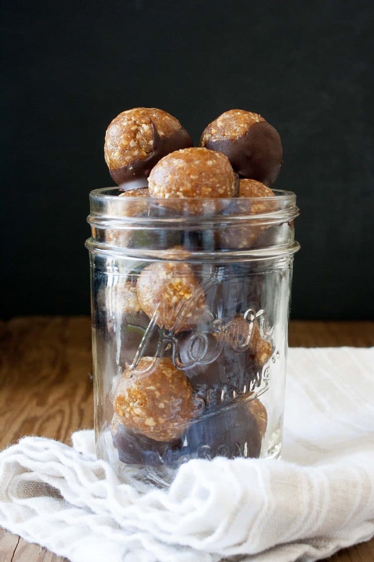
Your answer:
[[[160,107],[195,142],[221,112],[278,129],[295,191],[292,318],[374,318],[374,3],[2,3],[2,318],[88,314],[105,129]]]

